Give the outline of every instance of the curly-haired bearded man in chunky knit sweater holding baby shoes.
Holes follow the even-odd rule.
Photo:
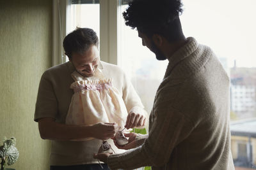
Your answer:
[[[131,149],[94,157],[111,169],[234,169],[230,152],[230,80],[211,48],[186,38],[178,0],[134,0],[123,13],[142,45],[168,59],[149,118],[148,135],[126,134]]]

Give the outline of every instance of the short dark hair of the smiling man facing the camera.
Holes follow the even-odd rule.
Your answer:
[[[68,58],[72,53],[83,53],[92,45],[99,46],[99,39],[95,31],[89,28],[79,28],[70,32],[63,40],[63,48]]]

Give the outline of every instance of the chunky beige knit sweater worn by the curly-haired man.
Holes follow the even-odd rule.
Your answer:
[[[143,145],[108,157],[111,169],[234,169],[229,78],[212,50],[188,38],[169,59]],[[141,138],[141,136],[140,136]]]

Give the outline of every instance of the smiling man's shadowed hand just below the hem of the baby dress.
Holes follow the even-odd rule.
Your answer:
[[[116,132],[120,129],[116,123],[97,123],[92,125],[92,137],[106,140],[113,138]]]

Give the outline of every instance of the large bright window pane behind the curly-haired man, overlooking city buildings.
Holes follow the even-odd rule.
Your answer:
[[[121,1],[123,12],[127,1]],[[125,4],[126,3],[126,4]],[[186,37],[210,46],[230,76],[230,130],[236,169],[256,169],[256,1],[183,0]],[[122,13],[120,13],[122,15]],[[164,76],[167,61],[156,60],[138,33],[120,22],[120,66],[129,74],[146,110]]]

